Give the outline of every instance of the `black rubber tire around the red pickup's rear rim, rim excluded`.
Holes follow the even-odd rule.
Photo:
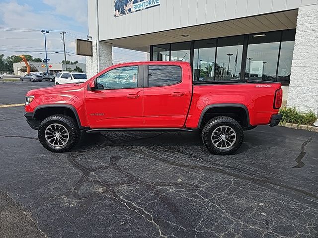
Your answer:
[[[228,149],[220,149],[212,143],[212,133],[219,126],[226,125],[231,127],[236,133],[235,143]],[[202,141],[207,149],[215,155],[230,155],[239,149],[243,143],[243,128],[238,121],[229,117],[215,117],[209,120],[202,130]]]

